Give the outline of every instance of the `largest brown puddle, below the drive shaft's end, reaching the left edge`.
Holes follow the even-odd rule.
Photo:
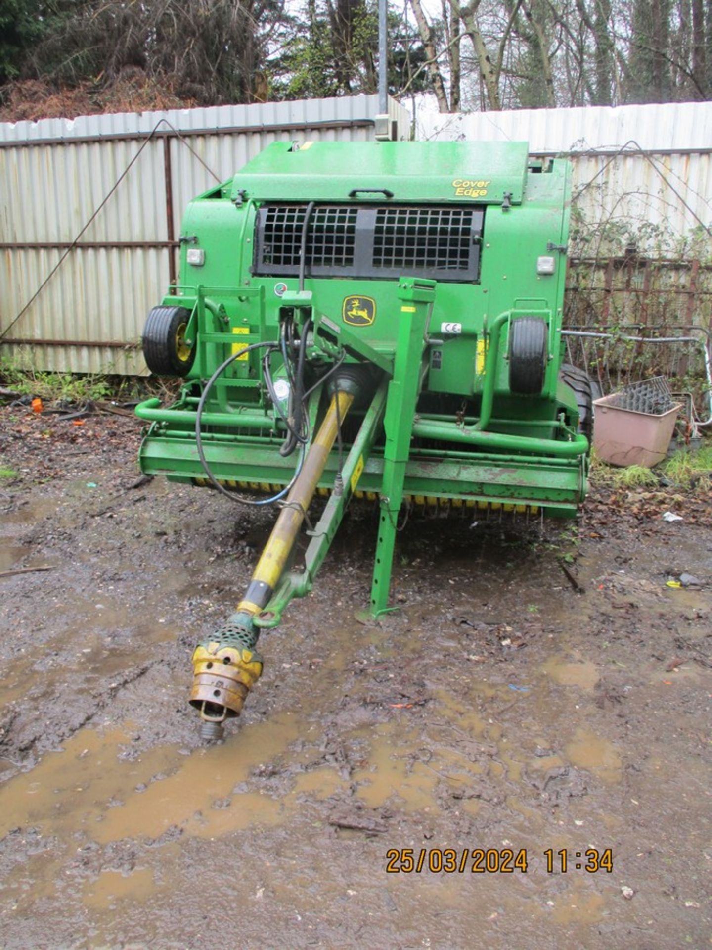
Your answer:
[[[35,769],[9,780],[0,837],[12,827],[32,825],[65,840],[83,830],[107,844],[158,838],[170,826],[210,838],[277,824],[293,806],[295,790],[280,801],[257,792],[234,794],[234,787],[286,750],[299,731],[296,716],[285,713],[245,727],[239,746],[227,742],[188,756],[162,746],[125,761],[117,758],[129,742],[124,732],[82,730],[64,751],[47,753]]]

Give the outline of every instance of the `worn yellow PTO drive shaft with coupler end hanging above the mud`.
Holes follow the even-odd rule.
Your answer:
[[[254,618],[264,611],[282,576],[339,426],[358,389],[358,374],[353,371],[343,372],[332,384],[327,413],[283,503],[244,598],[228,622],[196,647],[190,703],[200,712],[200,734],[207,741],[222,738],[223,723],[242,712],[247,694],[262,675],[262,657],[255,650],[260,632]]]

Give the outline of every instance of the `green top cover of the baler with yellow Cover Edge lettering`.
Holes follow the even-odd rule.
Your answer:
[[[522,200],[527,142],[274,142],[233,180],[255,200],[364,199],[501,204]],[[378,195],[376,195],[378,197]]]

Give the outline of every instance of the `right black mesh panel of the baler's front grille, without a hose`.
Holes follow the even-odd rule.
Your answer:
[[[469,208],[381,208],[376,215],[373,266],[466,271],[472,224]]]

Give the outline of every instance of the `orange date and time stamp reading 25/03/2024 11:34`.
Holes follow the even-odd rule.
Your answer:
[[[547,874],[567,874],[570,870],[596,874],[613,871],[613,854],[609,847],[603,850],[589,847],[584,851],[552,847],[539,852],[540,860],[530,861],[526,847],[391,847],[385,854],[388,874],[527,874],[530,864],[543,865]]]

